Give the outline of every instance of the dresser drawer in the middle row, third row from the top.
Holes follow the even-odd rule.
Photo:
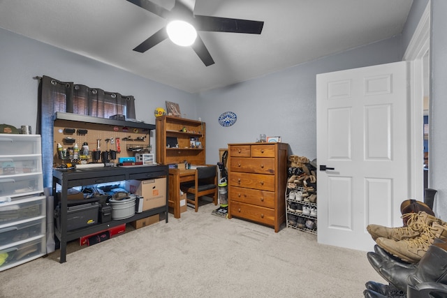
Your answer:
[[[274,181],[274,175],[231,172],[228,182],[230,186],[254,188],[261,191],[274,191]]]

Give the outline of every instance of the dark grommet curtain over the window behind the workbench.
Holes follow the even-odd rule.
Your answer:
[[[38,95],[38,125],[36,133],[42,137],[43,186],[52,186],[53,167],[53,116],[55,112],[83,114],[109,118],[124,114],[126,119],[136,119],[135,98],[119,93],[90,88],[73,82],[61,82],[41,77]]]

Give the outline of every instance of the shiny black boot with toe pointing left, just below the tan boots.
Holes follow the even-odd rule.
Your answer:
[[[384,259],[377,253],[367,253],[369,264],[388,283],[394,285],[397,290],[406,292],[406,276],[416,272],[417,265],[407,264],[393,259]],[[402,265],[402,266],[401,266]],[[404,271],[404,274],[402,272]]]

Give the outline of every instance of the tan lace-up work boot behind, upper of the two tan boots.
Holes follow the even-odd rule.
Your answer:
[[[437,223],[442,223],[439,218],[436,218],[424,211],[419,213],[409,213],[404,214],[402,218],[408,218],[407,226],[402,228],[387,228],[383,225],[368,225],[366,230],[371,234],[372,239],[383,237],[387,239],[393,239],[395,241],[400,241],[404,239],[411,239],[418,237],[421,230],[426,225],[432,225],[434,221]]]

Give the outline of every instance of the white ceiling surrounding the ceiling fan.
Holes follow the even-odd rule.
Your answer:
[[[261,35],[199,32],[215,61],[208,67],[170,40],[134,52],[166,20],[126,0],[0,0],[0,27],[196,93],[395,36],[412,2],[196,0],[197,15],[264,21]]]

